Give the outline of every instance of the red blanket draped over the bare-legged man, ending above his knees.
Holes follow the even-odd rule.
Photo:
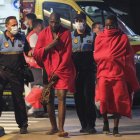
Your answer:
[[[53,37],[50,27],[44,29],[39,34],[34,58],[38,64],[45,67],[49,79],[52,74],[58,75],[59,80],[54,86],[55,89],[67,89],[74,92],[75,68],[71,59],[71,33],[61,27],[58,36],[60,36],[59,44],[45,53],[44,49],[53,41]]]

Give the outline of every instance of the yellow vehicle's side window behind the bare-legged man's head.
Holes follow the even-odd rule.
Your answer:
[[[46,26],[49,24],[49,16],[52,12],[59,13],[61,16],[61,23],[64,27],[68,29],[72,29],[73,16],[75,14],[75,10],[63,3],[56,2],[44,2],[43,3],[43,16]]]

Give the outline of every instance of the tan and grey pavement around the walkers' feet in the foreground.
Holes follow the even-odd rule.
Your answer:
[[[58,112],[56,110],[56,116]],[[31,118],[30,118],[31,120]],[[110,129],[113,128],[113,120],[110,119]],[[46,135],[46,132],[50,129],[50,122],[48,118],[40,119],[35,123],[29,125],[29,133],[20,135],[18,130],[14,130],[7,135],[0,137],[0,140],[140,140],[140,107],[133,109],[133,118],[122,117],[120,120],[119,131],[121,137],[114,137],[112,134],[105,135],[102,134],[102,119],[97,119],[96,130],[97,134],[81,134],[80,123],[77,118],[75,109],[67,109],[65,130],[69,132],[69,137],[61,138],[56,135]],[[6,128],[5,128],[6,129]]]

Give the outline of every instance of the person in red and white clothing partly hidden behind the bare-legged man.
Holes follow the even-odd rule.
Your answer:
[[[26,37],[31,50],[28,53],[28,56],[24,55],[26,63],[29,65],[34,77],[34,81],[31,82],[31,91],[27,94],[27,96],[25,96],[25,102],[28,108],[30,108],[28,110],[28,116],[33,115],[37,118],[46,116],[43,106],[40,103],[43,90],[42,68],[38,66],[37,62],[33,58],[33,52],[38,40],[38,35],[43,30],[43,28],[43,20],[34,19],[34,22],[32,23],[32,31],[30,31]]]

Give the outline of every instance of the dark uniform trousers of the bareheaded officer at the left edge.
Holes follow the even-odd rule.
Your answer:
[[[20,73],[13,73],[9,70],[0,69],[0,112],[3,109],[2,106],[2,95],[7,84],[11,86],[12,99],[15,109],[15,119],[19,126],[27,127],[28,119],[25,107],[25,101],[23,97],[24,92],[24,79]]]

